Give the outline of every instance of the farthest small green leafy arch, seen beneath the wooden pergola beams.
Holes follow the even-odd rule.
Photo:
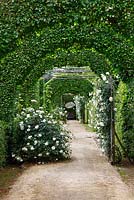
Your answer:
[[[64,94],[72,93],[86,98],[89,92],[93,90],[93,85],[88,79],[82,79],[81,76],[53,78],[45,84],[45,106],[51,110],[56,106],[61,106],[61,97]]]

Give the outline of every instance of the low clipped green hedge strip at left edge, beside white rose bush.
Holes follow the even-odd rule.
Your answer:
[[[7,157],[6,129],[5,122],[0,121],[0,167],[5,164]]]

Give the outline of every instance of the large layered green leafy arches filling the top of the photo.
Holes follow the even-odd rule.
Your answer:
[[[13,120],[18,85],[31,96],[32,86],[54,66],[90,66],[98,75],[109,71],[131,80],[133,11],[132,0],[1,1],[0,119]]]

